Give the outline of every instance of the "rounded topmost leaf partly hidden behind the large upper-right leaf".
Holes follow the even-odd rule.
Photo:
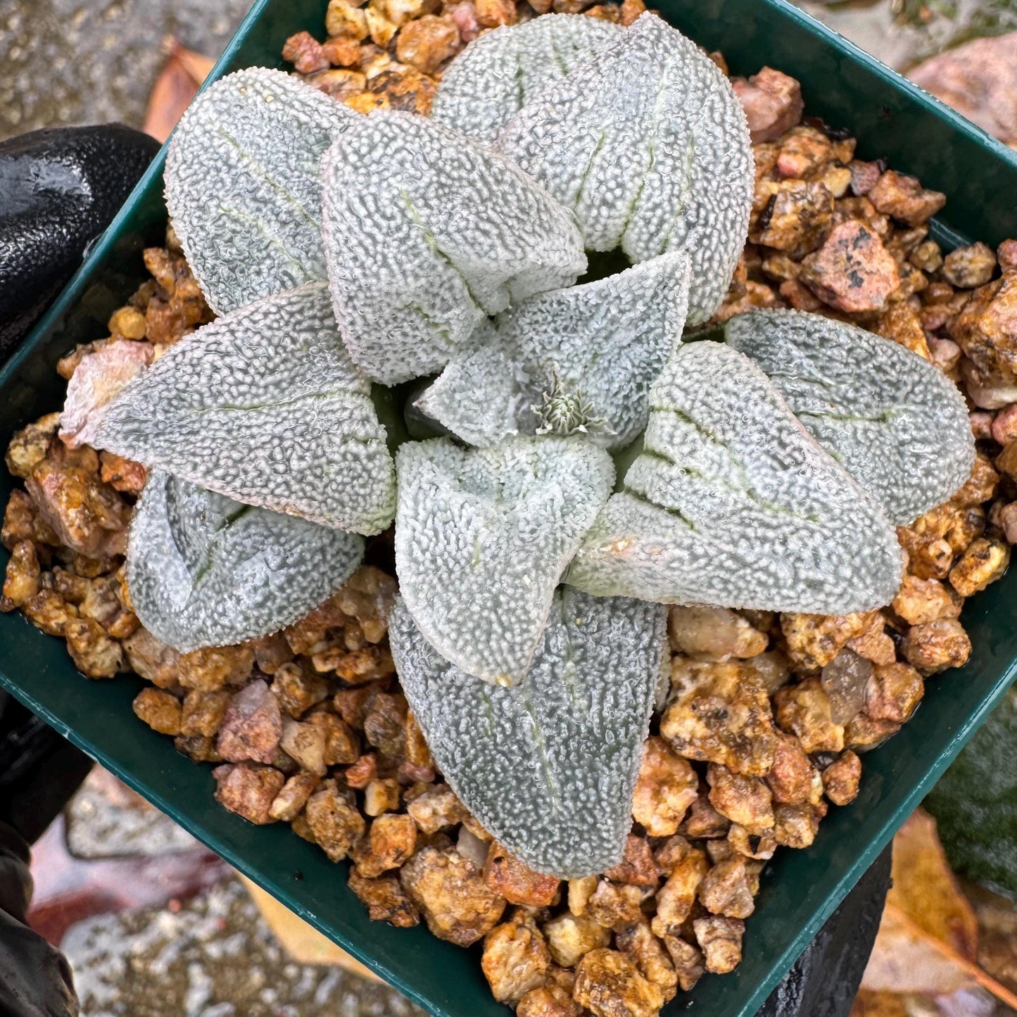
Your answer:
[[[623,32],[593,17],[546,14],[484,33],[442,75],[431,119],[490,143],[527,103]]]

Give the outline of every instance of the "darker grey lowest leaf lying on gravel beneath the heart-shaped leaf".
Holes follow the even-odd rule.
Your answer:
[[[666,611],[563,588],[522,684],[471,677],[390,619],[400,681],[434,760],[478,822],[561,879],[621,860],[666,647]]]

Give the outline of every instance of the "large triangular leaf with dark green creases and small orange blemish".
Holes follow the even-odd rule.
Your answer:
[[[902,560],[882,506],[720,343],[678,349],[644,452],[565,582],[666,603],[846,614],[888,604]]]

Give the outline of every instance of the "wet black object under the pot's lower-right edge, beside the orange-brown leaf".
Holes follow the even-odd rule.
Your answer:
[[[873,862],[756,1017],[847,1017],[890,889],[891,848]]]

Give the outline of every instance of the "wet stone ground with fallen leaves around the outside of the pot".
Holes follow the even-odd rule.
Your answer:
[[[799,3],[1017,147],[1017,0]],[[165,137],[247,5],[0,0],[0,139],[109,120]],[[1017,1017],[1013,901],[958,881],[921,814],[898,838],[903,856],[852,1017]],[[270,926],[228,865],[101,770],[37,845],[34,874],[32,921],[67,953],[83,1017],[421,1013],[294,959],[273,928],[303,961],[328,948],[298,919]]]

